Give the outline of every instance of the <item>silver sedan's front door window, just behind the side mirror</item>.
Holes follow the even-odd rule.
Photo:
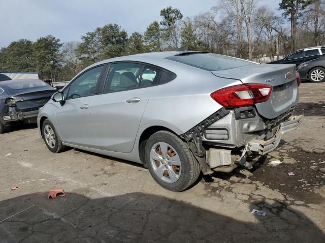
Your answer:
[[[77,77],[71,84],[68,99],[94,95],[103,66],[95,67]]]

